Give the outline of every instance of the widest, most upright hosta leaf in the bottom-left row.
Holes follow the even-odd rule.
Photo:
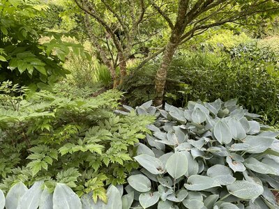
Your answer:
[[[80,198],[65,184],[57,183],[53,194],[53,209],[82,208]]]

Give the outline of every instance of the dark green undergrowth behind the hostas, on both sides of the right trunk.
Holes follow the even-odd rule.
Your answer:
[[[121,89],[128,104],[152,99],[159,63],[133,72]],[[279,111],[278,56],[269,48],[243,44],[223,52],[188,52],[176,56],[169,68],[165,100],[183,107],[190,100],[213,102],[237,98],[250,112],[276,125]]]

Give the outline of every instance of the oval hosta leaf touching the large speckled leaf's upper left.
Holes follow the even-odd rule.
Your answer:
[[[229,185],[236,180],[236,178],[232,176],[231,169],[221,164],[216,164],[213,167],[210,167],[206,174],[220,185]]]

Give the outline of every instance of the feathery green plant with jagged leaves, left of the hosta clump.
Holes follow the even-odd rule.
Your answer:
[[[53,92],[33,93],[2,84],[0,188],[6,193],[17,182],[32,186],[43,181],[55,197],[57,187],[68,191],[60,183],[78,196],[107,202],[105,186],[125,183],[138,167],[134,144],[151,134],[146,125],[154,116],[114,114],[119,91],[92,98],[59,85]]]

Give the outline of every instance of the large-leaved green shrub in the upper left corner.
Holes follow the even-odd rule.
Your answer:
[[[43,3],[1,0],[0,82],[9,79],[20,85],[46,88],[68,73],[61,63],[69,52],[86,57],[81,45],[63,42],[62,34],[40,26],[39,19],[47,18],[47,8]],[[51,37],[50,42],[41,43],[40,38],[45,36]]]

